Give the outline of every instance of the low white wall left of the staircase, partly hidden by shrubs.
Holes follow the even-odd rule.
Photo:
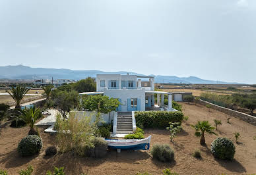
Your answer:
[[[92,118],[92,122],[94,122],[96,120],[96,111],[71,111],[71,112],[75,112],[76,116],[80,117],[91,117]],[[111,123],[114,116],[117,115],[117,112],[112,111],[108,114],[101,114],[102,120],[104,120],[104,122],[106,123]]]

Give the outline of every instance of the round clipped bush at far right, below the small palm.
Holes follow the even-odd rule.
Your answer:
[[[218,137],[212,141],[211,151],[214,157],[232,160],[236,153],[236,147],[230,139]]]

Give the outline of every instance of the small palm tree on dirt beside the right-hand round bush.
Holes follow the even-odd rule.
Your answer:
[[[195,136],[201,137],[200,144],[205,145],[205,132],[208,132],[208,134],[215,134],[213,130],[215,129],[213,126],[210,126],[208,121],[198,121],[197,124],[191,125],[193,128],[195,128]]]

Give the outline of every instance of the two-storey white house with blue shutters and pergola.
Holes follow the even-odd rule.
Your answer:
[[[148,83],[141,79],[148,79]],[[96,92],[83,92],[80,95],[102,94],[113,97],[121,102],[117,111],[175,111],[172,109],[172,93],[154,91],[153,76],[98,74],[96,76]],[[154,103],[154,94],[157,94],[157,103]],[[168,105],[164,105],[164,95],[168,95]],[[161,101],[160,101],[161,95]]]

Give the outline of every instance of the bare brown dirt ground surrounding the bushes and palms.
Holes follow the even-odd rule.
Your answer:
[[[174,149],[175,161],[162,163],[153,160],[150,151],[109,151],[104,159],[92,159],[75,157],[69,153],[58,154],[54,157],[45,157],[44,151],[49,145],[55,144],[55,136],[43,132],[40,128],[43,140],[43,148],[39,155],[33,157],[20,157],[16,147],[22,137],[26,136],[29,128],[10,128],[8,122],[1,126],[0,139],[0,169],[5,169],[9,174],[17,174],[21,168],[28,165],[34,167],[34,174],[46,174],[47,170],[53,170],[53,166],[65,166],[66,174],[136,174],[148,172],[150,174],[162,174],[164,168],[170,168],[179,174],[252,174],[256,173],[256,127],[229,116],[230,123],[226,122],[227,114],[214,111],[210,112],[201,105],[181,103],[183,112],[189,116],[187,122],[183,122],[183,131],[170,143],[167,130],[144,130],[146,136],[151,135],[151,145],[155,143],[168,143]],[[190,124],[197,120],[208,120],[213,124],[213,119],[222,120],[216,133],[218,136],[205,134],[207,147],[199,143],[195,137],[195,130]],[[234,141],[234,132],[239,132],[241,137],[236,145],[234,161],[222,161],[214,159],[210,153],[210,143],[216,137],[228,137]],[[195,149],[201,150],[202,159],[195,159],[192,154]]]

